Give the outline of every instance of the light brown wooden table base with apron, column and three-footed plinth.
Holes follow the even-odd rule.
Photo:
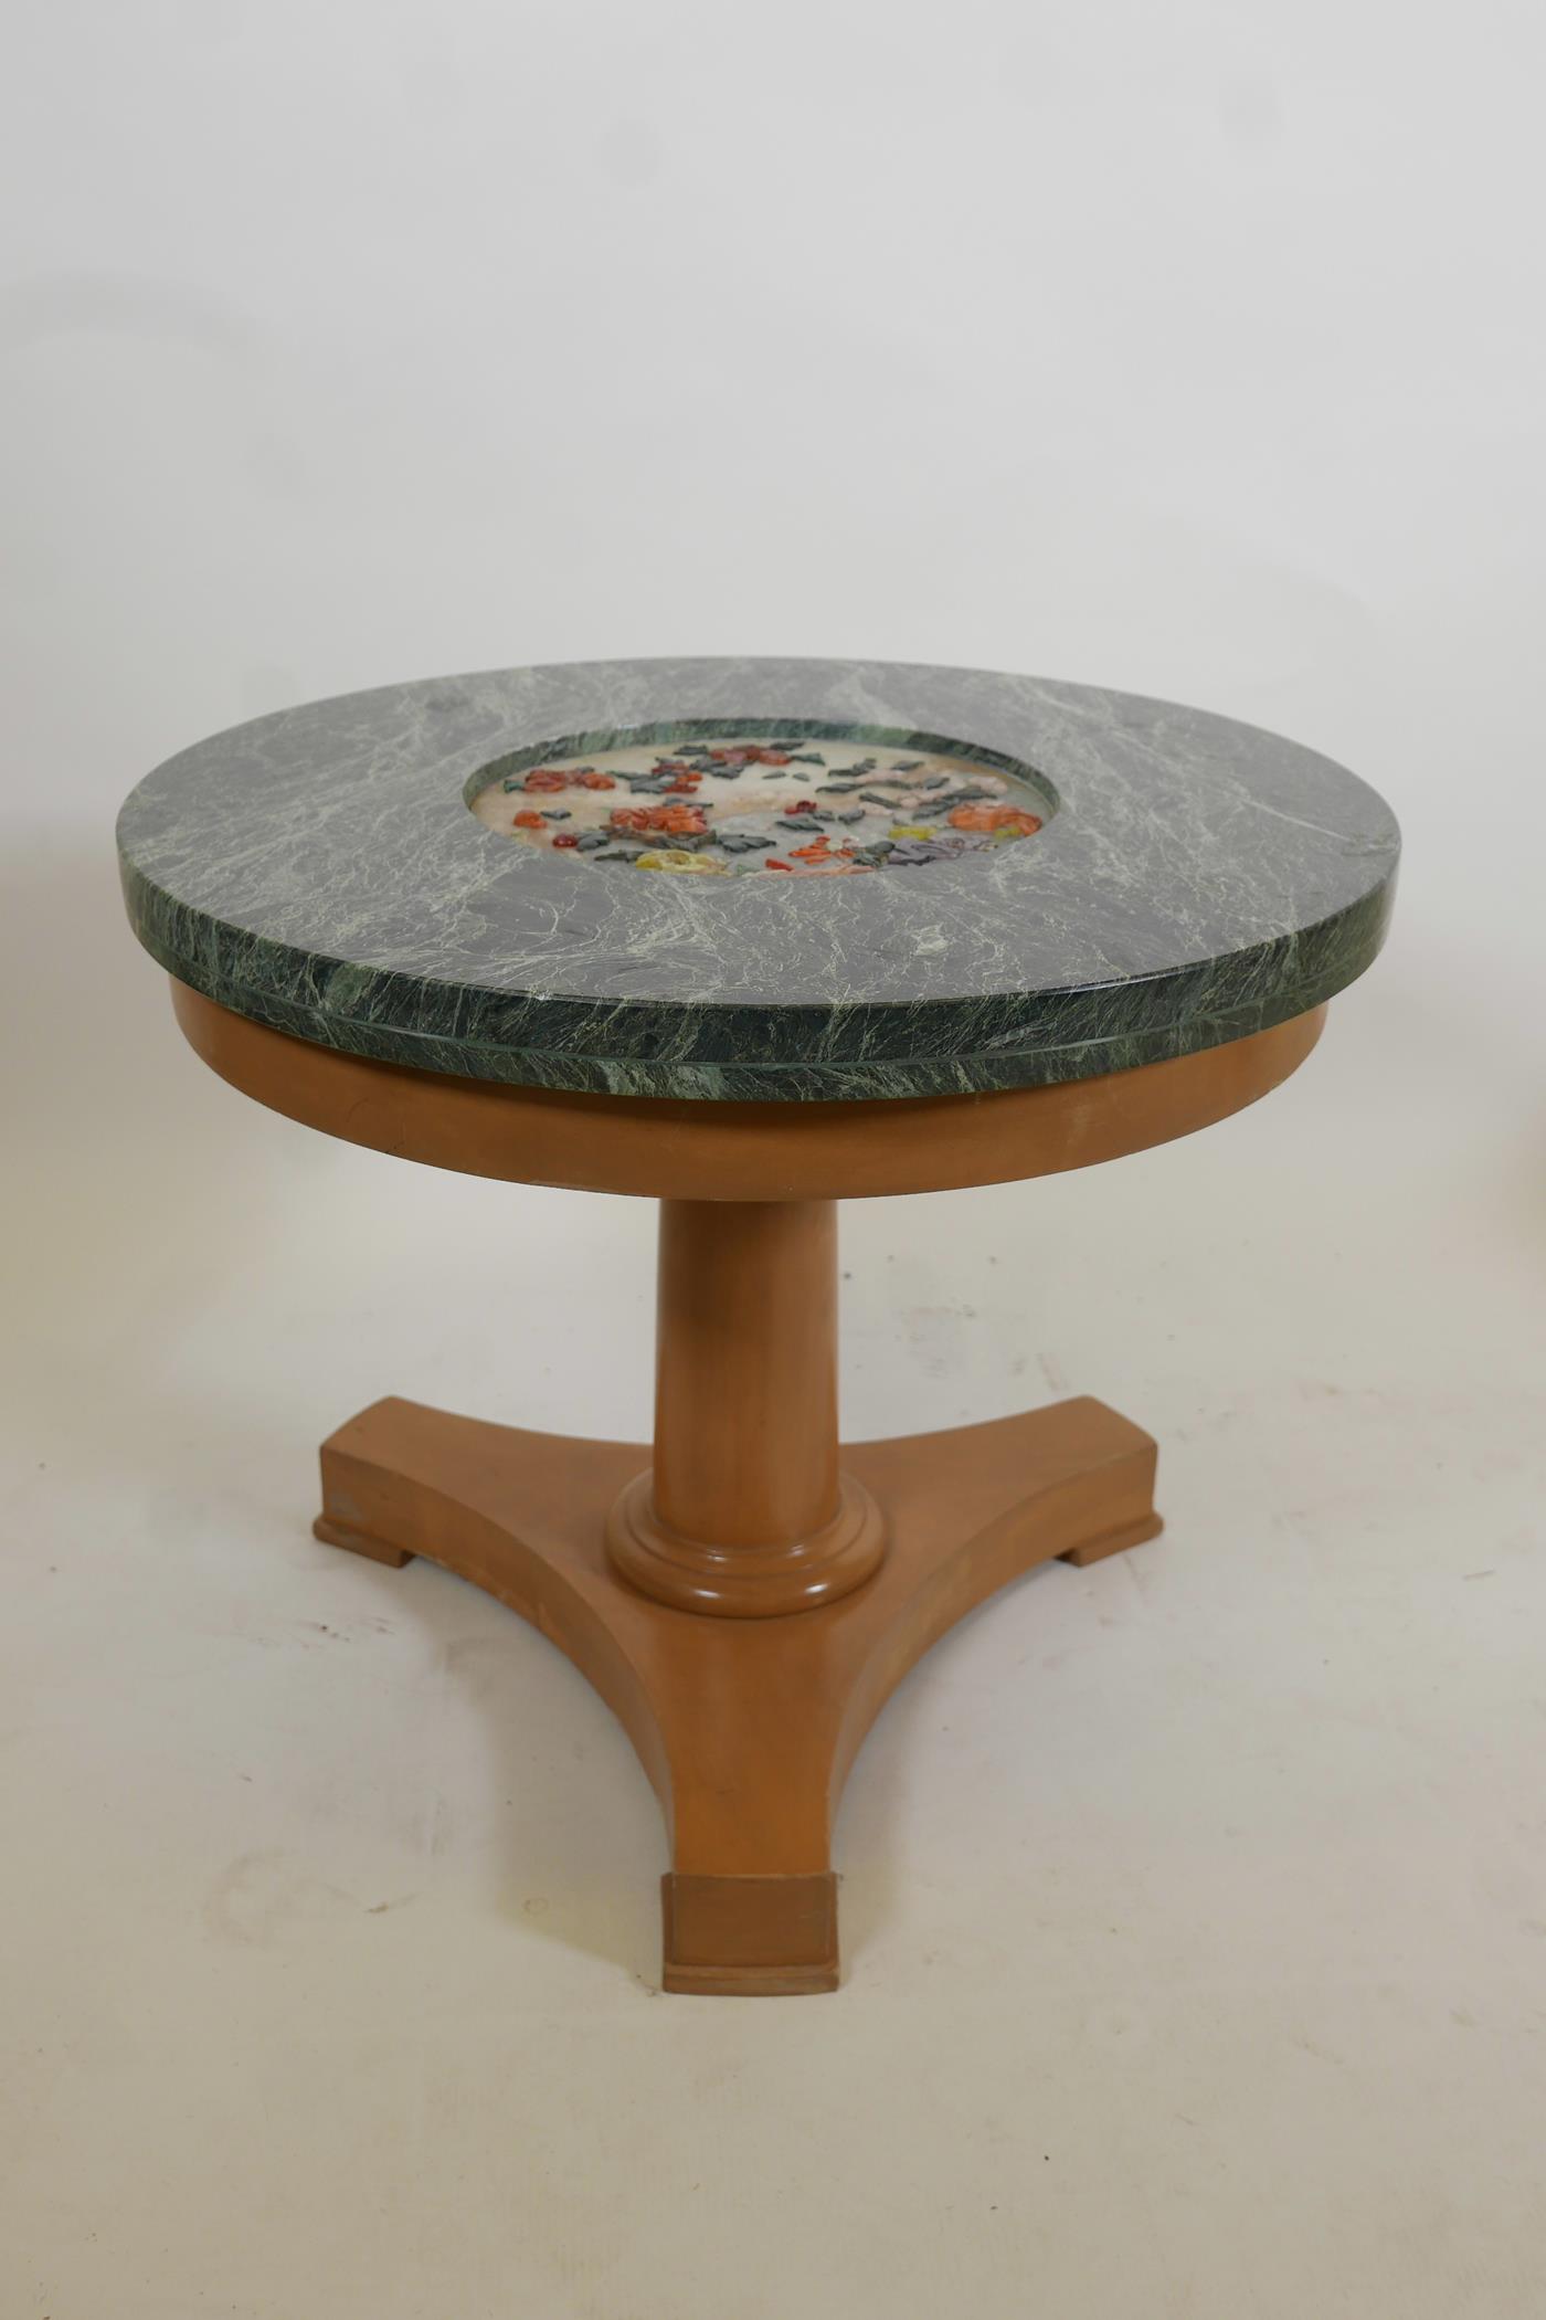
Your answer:
[[[839,1452],[837,1192],[994,1183],[1187,1134],[1286,1079],[1323,1009],[1069,1086],[679,1104],[403,1070],[172,993],[216,1072],[329,1134],[661,1202],[654,1445],[378,1401],[322,1448],[318,1536],[457,1571],[610,1703],[670,1830],[665,1988],[834,1988],[832,1819],[888,1694],[1034,1564],[1159,1531],[1154,1443],[1101,1401]]]

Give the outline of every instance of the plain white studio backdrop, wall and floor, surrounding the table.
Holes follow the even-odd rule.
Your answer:
[[[35,0],[7,49],[5,2311],[1534,2320],[1541,12]],[[1201,701],[1407,828],[1259,1114],[851,1213],[855,1434],[1096,1390],[1171,1531],[906,1687],[804,2007],[647,2002],[605,1712],[306,1536],[380,1390],[640,1431],[647,1213],[241,1104],[111,870],[216,726],[647,652]]]

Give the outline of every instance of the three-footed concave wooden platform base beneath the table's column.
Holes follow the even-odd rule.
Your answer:
[[[885,1524],[874,1575],[814,1610],[702,1617],[642,1594],[605,1552],[649,1450],[378,1401],[322,1448],[318,1536],[445,1564],[596,1684],[665,1807],[668,1991],[830,1991],[832,1817],[883,1701],[1022,1571],[1152,1538],[1154,1455],[1087,1399],[855,1445],[844,1466]]]

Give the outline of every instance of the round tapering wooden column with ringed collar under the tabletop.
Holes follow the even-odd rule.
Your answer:
[[[837,1462],[837,1202],[661,1202],[654,1448],[607,1527],[644,1594],[781,1617],[876,1568]]]

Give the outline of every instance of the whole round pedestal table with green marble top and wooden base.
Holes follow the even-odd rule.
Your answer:
[[[118,824],[243,1093],[438,1167],[661,1199],[654,1448],[380,1401],[318,1536],[542,1626],[665,1805],[665,1986],[837,1986],[830,1828],[906,1668],[1159,1529],[1099,1401],[851,1445],[839,1197],[1082,1167],[1310,1053],[1381,798],[1231,719],[876,661],[586,661],[283,710]]]

